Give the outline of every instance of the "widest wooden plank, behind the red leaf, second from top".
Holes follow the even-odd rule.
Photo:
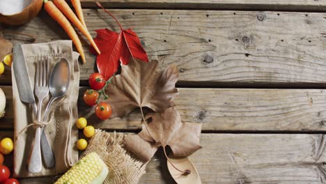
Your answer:
[[[111,10],[126,29],[134,27],[150,59],[160,68],[171,63],[180,70],[179,84],[326,84],[324,13],[284,13],[209,10]],[[102,10],[84,10],[86,24],[95,29],[118,26]],[[37,43],[68,39],[45,12],[20,27],[4,27],[37,36]],[[6,33],[13,43],[28,38]],[[88,53],[81,80],[95,69]],[[8,72],[8,71],[6,71]],[[9,73],[9,72],[8,72]],[[11,83],[9,75],[1,82]],[[304,85],[303,85],[304,84]],[[311,88],[317,88],[312,86]]]

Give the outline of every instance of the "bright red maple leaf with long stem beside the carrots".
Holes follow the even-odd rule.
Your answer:
[[[105,10],[100,3],[96,2],[106,13],[116,20],[116,17]],[[116,33],[109,29],[95,30],[98,35],[94,39],[96,45],[100,49],[101,54],[96,57],[98,72],[103,75],[104,79],[109,79],[118,70],[121,63],[127,65],[130,57],[148,62],[146,51],[141,46],[140,40],[131,29],[123,29],[121,24],[116,20],[121,28],[120,33]],[[97,54],[93,47],[90,47],[92,54]]]

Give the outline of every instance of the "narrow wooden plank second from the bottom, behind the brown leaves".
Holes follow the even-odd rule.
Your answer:
[[[3,88],[3,87],[2,87]],[[8,101],[0,128],[13,128],[11,87],[3,88]],[[79,91],[79,116],[95,128],[136,130],[141,115],[100,121]],[[325,131],[326,90],[319,89],[179,89],[176,108],[185,122],[203,123],[203,130]]]

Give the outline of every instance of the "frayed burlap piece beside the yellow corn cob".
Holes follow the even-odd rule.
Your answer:
[[[84,152],[87,155],[96,152],[109,167],[109,175],[104,184],[133,184],[145,174],[146,164],[134,158],[123,148],[123,134],[96,130]]]

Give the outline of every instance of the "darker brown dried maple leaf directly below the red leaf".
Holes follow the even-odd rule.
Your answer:
[[[127,66],[121,66],[121,75],[114,76],[105,90],[109,95],[106,102],[112,107],[111,118],[123,117],[137,107],[163,112],[175,105],[178,68],[171,65],[157,72],[157,65],[157,61],[146,63],[131,59]]]

